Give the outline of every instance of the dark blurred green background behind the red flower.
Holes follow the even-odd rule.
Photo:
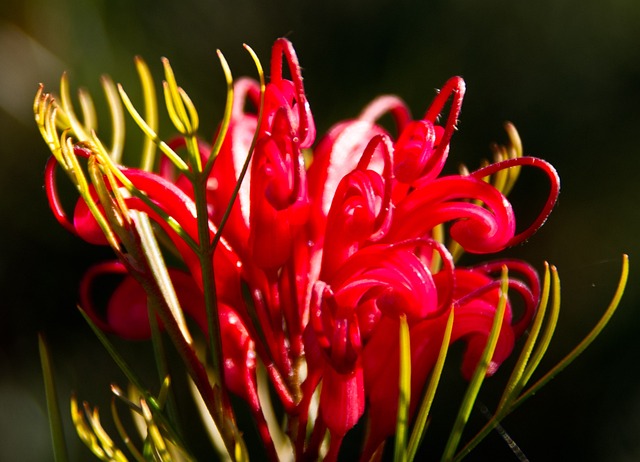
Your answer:
[[[124,383],[74,308],[83,271],[109,253],[68,235],[48,210],[48,151],[31,115],[37,84],[56,91],[68,70],[73,86],[102,104],[102,73],[135,93],[133,56],[158,79],[166,56],[209,137],[224,101],[216,48],[236,76],[255,75],[242,43],[268,63],[280,36],[297,49],[320,132],[381,93],[400,95],[419,115],[434,89],[458,74],[467,96],[450,165],[477,166],[492,141],[505,141],[502,123],[510,120],[525,152],[557,167],[556,210],[507,253],[538,268],[548,260],[562,277],[563,311],[543,369],[595,324],[625,252],[630,284],[602,337],[504,427],[534,461],[640,460],[639,25],[635,0],[1,2],[0,460],[51,459],[38,331],[50,339],[65,412],[71,390],[93,399],[106,396],[111,381]],[[545,194],[538,180],[525,172],[512,196],[525,221],[525,209]],[[71,431],[68,440],[73,460],[87,460]],[[517,459],[494,434],[469,460]]]

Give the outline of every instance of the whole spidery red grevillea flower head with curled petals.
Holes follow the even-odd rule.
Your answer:
[[[167,75],[171,95],[173,74]],[[67,229],[94,244],[110,243],[118,254],[117,262],[91,269],[82,284],[81,304],[99,328],[130,339],[151,335],[147,301],[155,286],[148,281],[157,279],[144,258],[132,255],[142,228],[138,219],[126,218],[144,214],[183,264],[167,272],[182,312],[205,337],[217,324],[221,375],[249,404],[267,447],[272,442],[257,392],[258,362],[291,419],[297,457],[317,456],[328,431],[327,458],[337,458],[344,436],[367,411],[368,459],[395,431],[401,321],[411,339],[411,414],[451,311],[451,342],[466,343],[462,373],[472,376],[492,331],[503,268],[509,295],[487,374],[509,356],[540,300],[535,270],[515,260],[472,267],[456,261],[461,250],[493,254],[530,237],[549,215],[559,179],[548,163],[521,152],[475,172],[443,175],[465,93],[460,77],[445,82],[420,118],[398,97],[382,96],[316,144],[301,69],[285,39],[273,47],[270,76],[266,86],[246,78],[235,83],[235,99],[212,145],[195,137],[187,123],[194,120],[190,102],[176,91],[184,114],[175,101],[168,106],[181,134],[160,146],[167,155],[155,171],[109,162],[89,130],[73,123],[73,142],[67,132],[61,142],[52,140],[51,124],[41,122],[56,154],[47,168],[47,193]],[[46,95],[39,98],[40,105],[54,104]],[[44,110],[37,112],[44,118]],[[395,134],[377,123],[386,113],[395,120]],[[75,119],[66,116],[67,122]],[[138,123],[157,142],[154,128]],[[514,133],[510,128],[513,150],[520,151]],[[190,153],[186,164],[179,160],[181,149]],[[73,219],[60,205],[54,176],[58,164],[67,173],[80,168],[69,166],[69,158],[99,166]],[[509,172],[523,166],[549,179],[544,207],[524,225],[506,198],[514,176]],[[212,273],[198,250],[207,240],[217,243],[206,257]],[[123,280],[102,317],[91,294],[105,273]],[[213,324],[211,303],[218,317]]]

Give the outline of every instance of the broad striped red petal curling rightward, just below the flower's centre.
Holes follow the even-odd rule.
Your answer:
[[[441,299],[434,279],[416,249],[439,252],[445,284]],[[381,317],[406,315],[411,323],[433,316],[453,296],[451,256],[435,241],[407,241],[376,245],[354,254],[331,280],[315,283],[311,293],[309,325],[326,360],[338,372],[353,365]]]

